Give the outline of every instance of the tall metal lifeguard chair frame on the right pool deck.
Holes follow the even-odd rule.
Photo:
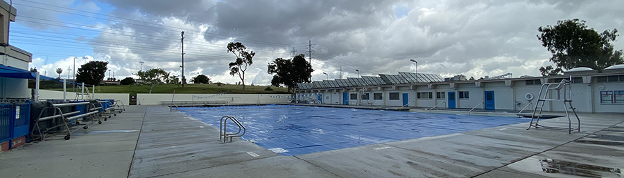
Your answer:
[[[529,130],[531,127],[534,128],[546,128],[546,129],[555,129],[555,130],[568,130],[568,134],[571,134],[573,130],[578,130],[580,132],[580,119],[576,114],[576,108],[572,106],[572,76],[570,76],[570,80],[562,79],[559,83],[544,83],[541,85],[539,89],[539,95],[537,96],[537,103],[535,104],[535,110],[533,110],[533,114],[531,115],[531,122],[529,123],[529,127],[526,130]],[[551,90],[555,91],[555,99],[548,98],[549,92]],[[563,90],[563,98],[562,92]],[[569,92],[569,95],[567,95]],[[546,101],[561,101],[564,104],[564,108],[566,110],[566,117],[568,117],[568,127],[549,127],[542,126],[539,124],[539,117],[541,117],[541,112],[544,110],[544,103]],[[576,117],[577,128],[572,128],[572,120],[570,119],[570,112],[568,109],[571,109]]]

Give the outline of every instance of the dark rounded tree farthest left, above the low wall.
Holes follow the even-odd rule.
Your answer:
[[[108,69],[105,61],[89,61],[76,71],[76,82],[98,86],[104,79],[104,73]]]

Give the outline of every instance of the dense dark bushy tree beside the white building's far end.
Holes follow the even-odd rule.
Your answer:
[[[272,86],[284,85],[290,92],[300,82],[310,82],[312,66],[306,61],[305,55],[297,55],[291,59],[277,58],[268,64],[267,72],[273,75]]]

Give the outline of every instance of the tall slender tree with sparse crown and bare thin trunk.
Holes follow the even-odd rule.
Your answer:
[[[241,42],[231,42],[227,44],[227,52],[232,52],[236,56],[236,61],[229,63],[229,75],[239,75],[241,83],[243,83],[243,93],[245,93],[245,71],[254,61],[256,52],[247,52],[247,47]]]

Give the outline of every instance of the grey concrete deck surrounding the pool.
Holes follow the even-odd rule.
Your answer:
[[[249,141],[164,106],[0,153],[0,177],[621,177],[624,115],[580,114],[581,132],[528,123],[306,155]],[[567,126],[567,119],[540,121]]]

